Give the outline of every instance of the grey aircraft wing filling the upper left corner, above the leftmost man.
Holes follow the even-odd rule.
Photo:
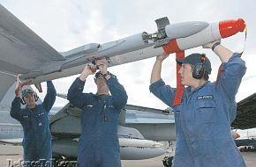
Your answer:
[[[41,69],[48,62],[63,61],[44,40],[0,4],[0,100],[18,74]]]

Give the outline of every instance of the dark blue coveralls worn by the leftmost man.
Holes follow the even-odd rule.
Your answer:
[[[56,90],[51,81],[47,82],[47,94],[34,111],[20,108],[20,98],[11,103],[11,117],[19,120],[23,127],[23,149],[26,166],[50,166],[51,134],[49,131],[49,111],[56,99]],[[43,161],[40,161],[43,159]],[[32,164],[31,164],[32,163]],[[41,165],[38,165],[41,163]]]

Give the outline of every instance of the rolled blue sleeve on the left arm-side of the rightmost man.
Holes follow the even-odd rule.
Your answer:
[[[176,92],[175,88],[171,88],[169,85],[166,85],[162,79],[159,79],[149,86],[149,91],[152,92],[155,97],[161,99],[163,103],[172,107]]]

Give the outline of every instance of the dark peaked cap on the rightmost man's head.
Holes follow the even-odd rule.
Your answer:
[[[189,54],[184,59],[176,59],[176,62],[179,64],[189,63],[192,65],[195,65],[195,64],[202,62],[203,56],[205,56],[205,54]],[[207,56],[205,56],[205,58],[206,59],[203,61],[203,63],[205,65],[206,72],[207,72],[207,74],[211,74],[211,71],[212,71],[211,62],[209,61]]]

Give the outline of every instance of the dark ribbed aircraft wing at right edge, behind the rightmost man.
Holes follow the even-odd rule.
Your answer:
[[[234,129],[256,127],[256,93],[237,103],[237,117],[231,127]]]

